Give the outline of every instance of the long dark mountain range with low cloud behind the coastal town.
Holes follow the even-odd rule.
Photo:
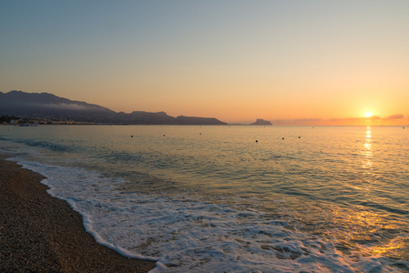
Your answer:
[[[225,125],[216,118],[168,116],[165,112],[115,112],[107,107],[69,100],[48,93],[0,92],[0,115],[63,117],[81,122],[133,125]]]

